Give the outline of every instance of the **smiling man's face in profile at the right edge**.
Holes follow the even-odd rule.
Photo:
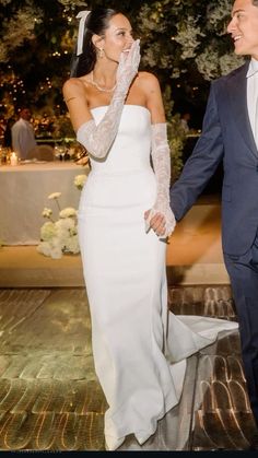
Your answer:
[[[255,0],[255,3],[235,0],[227,32],[234,40],[235,54],[258,60],[258,2]]]

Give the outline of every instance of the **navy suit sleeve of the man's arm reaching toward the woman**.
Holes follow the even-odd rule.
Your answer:
[[[171,207],[179,221],[197,200],[223,156],[223,140],[218,114],[214,83],[211,84],[202,133],[181,175],[171,189]]]

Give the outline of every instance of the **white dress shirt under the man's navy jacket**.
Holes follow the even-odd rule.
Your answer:
[[[258,149],[258,60],[251,58],[246,78],[248,115]]]

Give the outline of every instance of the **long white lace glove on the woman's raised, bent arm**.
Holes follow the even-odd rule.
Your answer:
[[[95,120],[84,122],[77,131],[77,140],[93,157],[104,158],[115,140],[119,127],[124,103],[132,80],[138,73],[140,63],[140,40],[133,42],[128,56],[121,52],[117,69],[117,85],[101,122]]]

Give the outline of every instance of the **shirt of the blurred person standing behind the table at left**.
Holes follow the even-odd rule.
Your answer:
[[[12,148],[19,157],[26,158],[27,153],[37,145],[31,122],[20,118],[12,126]]]

